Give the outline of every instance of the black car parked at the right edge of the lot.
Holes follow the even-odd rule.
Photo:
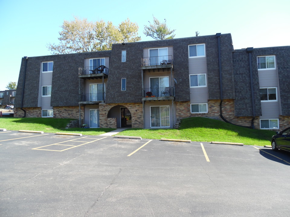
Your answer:
[[[277,131],[276,134],[272,136],[272,149],[274,151],[278,149],[290,151],[290,127],[281,132]]]

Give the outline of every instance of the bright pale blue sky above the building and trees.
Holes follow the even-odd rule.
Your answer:
[[[203,0],[203,1],[92,1],[0,0],[0,90],[18,82],[21,58],[50,55],[48,43],[58,43],[63,20],[74,16],[89,21],[125,19],[144,25],[154,16],[176,29],[175,38],[231,33],[234,49],[290,46],[290,3],[288,0]],[[152,39],[153,40],[153,39]]]

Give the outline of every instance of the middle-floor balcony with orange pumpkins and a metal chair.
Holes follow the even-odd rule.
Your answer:
[[[144,88],[142,90],[143,101],[174,99],[174,96],[174,87]]]

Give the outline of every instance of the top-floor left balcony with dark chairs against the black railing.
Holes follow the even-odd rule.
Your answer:
[[[101,77],[108,77],[108,74],[109,68],[104,65],[79,67],[79,78],[83,79],[101,79]]]

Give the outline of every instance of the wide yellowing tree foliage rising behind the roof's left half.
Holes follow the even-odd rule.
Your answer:
[[[59,44],[48,44],[52,54],[80,53],[110,50],[112,44],[140,41],[139,26],[127,18],[118,27],[104,20],[90,22],[74,17],[72,21],[63,21],[59,32]]]

